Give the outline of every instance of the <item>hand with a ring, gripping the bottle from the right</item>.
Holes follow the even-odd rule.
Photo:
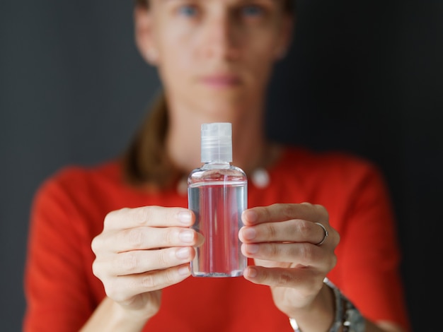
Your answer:
[[[320,295],[326,289],[323,279],[335,266],[334,250],[340,241],[329,225],[326,208],[310,203],[273,204],[244,211],[242,220],[241,251],[255,261],[255,266],[244,271],[244,278],[269,285],[275,304],[290,317],[304,315],[322,302],[319,299],[328,302],[319,307],[333,307],[330,296]],[[332,319],[333,312],[330,315]]]

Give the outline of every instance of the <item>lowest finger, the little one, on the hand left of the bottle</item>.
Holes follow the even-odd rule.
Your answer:
[[[135,295],[144,292],[161,290],[164,287],[175,285],[190,276],[190,265],[183,264],[159,271],[140,273],[137,275],[123,275],[104,283],[105,292],[117,302],[125,302]]]

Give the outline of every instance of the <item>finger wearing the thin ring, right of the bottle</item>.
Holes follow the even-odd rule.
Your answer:
[[[311,221],[293,219],[280,223],[262,223],[244,226],[238,237],[243,243],[257,242],[310,242],[318,244],[325,238],[325,231]]]

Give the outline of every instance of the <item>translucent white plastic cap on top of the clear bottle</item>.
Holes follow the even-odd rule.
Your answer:
[[[202,162],[232,162],[231,124],[202,124],[201,148]]]

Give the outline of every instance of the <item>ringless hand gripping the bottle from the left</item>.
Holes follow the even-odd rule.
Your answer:
[[[203,237],[189,227],[186,208],[145,206],[108,213],[91,244],[93,273],[106,295],[130,316],[147,321],[160,308],[161,289],[190,275],[194,247]]]

